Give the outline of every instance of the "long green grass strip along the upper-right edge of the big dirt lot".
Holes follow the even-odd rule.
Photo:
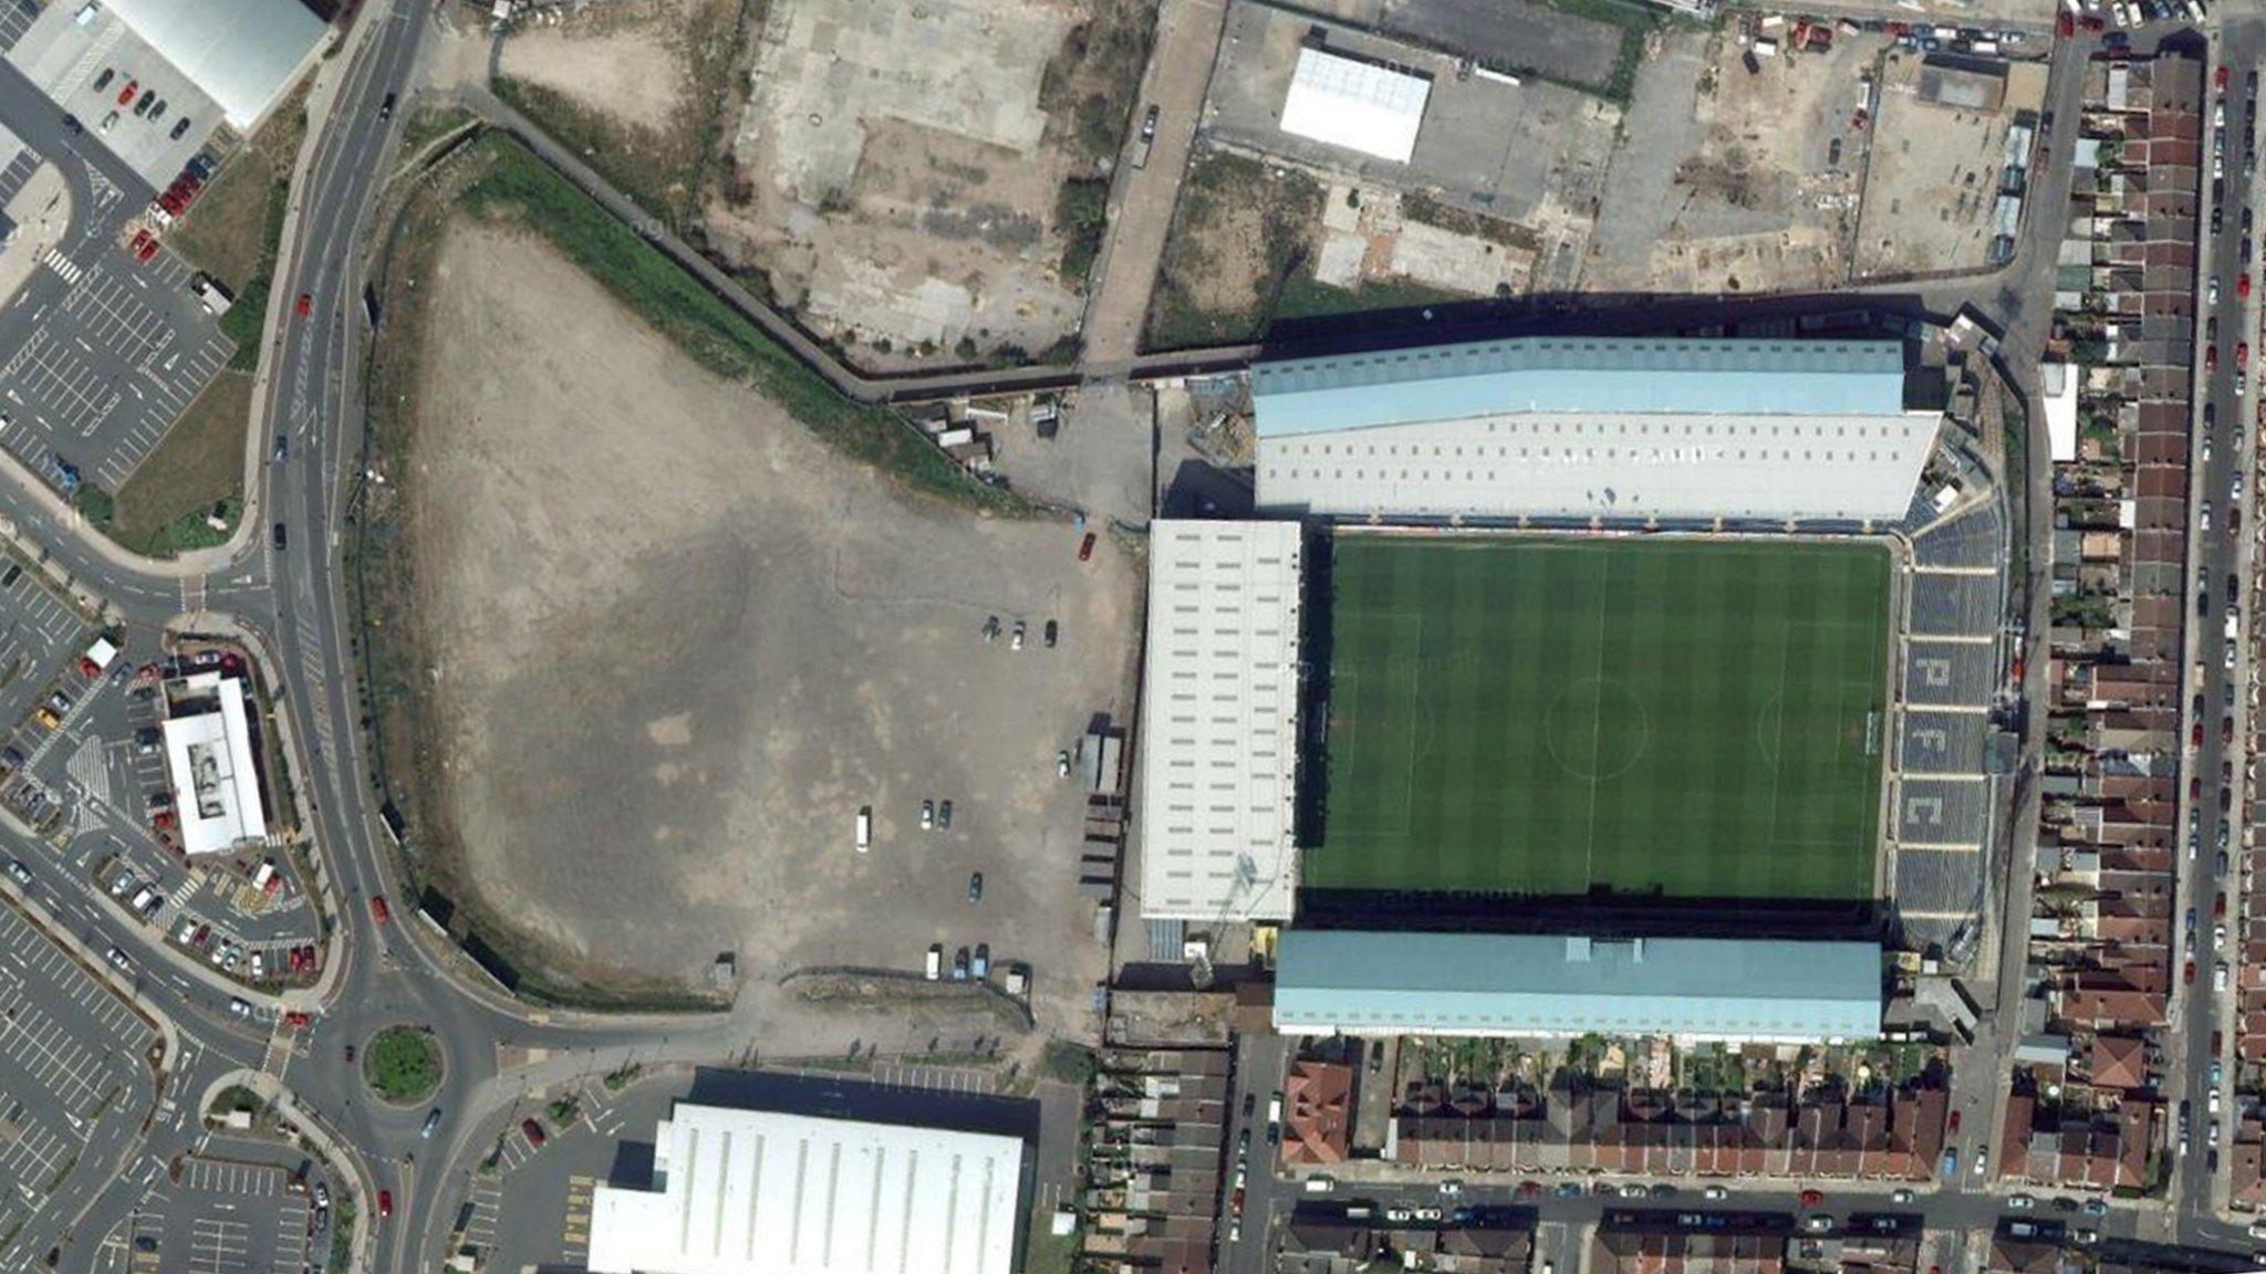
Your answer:
[[[508,218],[539,233],[696,363],[757,388],[836,451],[897,476],[915,492],[986,512],[1026,512],[1024,501],[968,476],[895,413],[841,397],[523,145],[503,136],[474,145],[483,152],[483,170],[458,195],[465,211]]]

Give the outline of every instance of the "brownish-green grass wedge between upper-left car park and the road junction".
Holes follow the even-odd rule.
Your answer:
[[[111,540],[163,558],[227,542],[245,506],[247,428],[252,376],[222,372],[118,487]],[[229,530],[206,524],[215,508]]]

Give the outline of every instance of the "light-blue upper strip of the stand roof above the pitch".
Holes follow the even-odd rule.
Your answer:
[[[1539,336],[1251,370],[1262,438],[1511,413],[1903,413],[1897,340]]]

